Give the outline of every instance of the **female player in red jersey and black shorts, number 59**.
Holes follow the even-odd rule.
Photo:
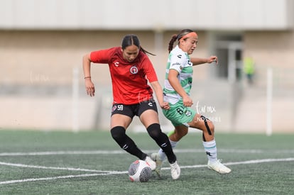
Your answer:
[[[134,116],[138,116],[148,134],[167,155],[173,179],[178,179],[180,166],[168,136],[160,129],[156,102],[153,100],[153,90],[161,108],[169,109],[169,105],[163,101],[162,88],[146,53],[151,54],[143,50],[136,35],[126,35],[122,40],[121,47],[90,52],[83,57],[85,87],[87,94],[94,96],[95,87],[90,73],[91,62],[108,64],[114,100],[110,130],[112,138],[126,152],[148,162],[151,169],[156,169],[156,162],[142,152],[136,143],[126,135],[126,128]],[[153,90],[147,84],[148,81]]]

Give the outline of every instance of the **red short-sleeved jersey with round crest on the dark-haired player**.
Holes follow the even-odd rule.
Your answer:
[[[90,59],[94,63],[109,65],[114,103],[138,104],[153,97],[153,90],[147,82],[156,82],[158,78],[151,61],[142,51],[133,62],[124,60],[120,47],[91,52]]]

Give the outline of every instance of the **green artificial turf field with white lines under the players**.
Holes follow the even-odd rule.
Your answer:
[[[147,153],[158,146],[147,133],[129,133]],[[153,174],[130,182],[135,157],[109,132],[0,131],[0,194],[294,194],[294,134],[216,135],[218,157],[232,172],[207,169],[200,133],[190,133],[175,150],[178,180]]]

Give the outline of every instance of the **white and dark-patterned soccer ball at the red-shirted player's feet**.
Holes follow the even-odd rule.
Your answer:
[[[136,160],[131,163],[128,173],[131,182],[148,182],[152,171],[147,162]]]

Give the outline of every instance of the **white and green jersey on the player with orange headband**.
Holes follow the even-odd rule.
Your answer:
[[[165,70],[165,82],[163,93],[164,101],[168,101],[170,104],[176,104],[182,97],[171,87],[170,82],[168,82],[168,72],[170,69],[175,69],[178,71],[178,79],[185,89],[186,93],[190,96],[190,89],[192,87],[192,62],[190,62],[190,56],[187,55],[187,52],[183,52],[178,45],[173,48],[168,56],[168,65]]]

